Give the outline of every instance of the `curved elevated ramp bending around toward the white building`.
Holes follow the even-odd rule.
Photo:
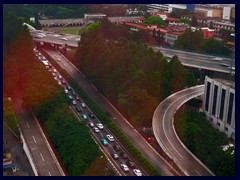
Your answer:
[[[153,115],[152,127],[157,142],[189,176],[212,176],[213,173],[180,141],[174,129],[173,116],[182,104],[203,92],[204,85],[200,85],[172,94],[158,105]]]

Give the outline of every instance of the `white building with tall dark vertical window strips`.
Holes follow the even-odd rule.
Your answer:
[[[235,140],[235,82],[206,76],[203,110],[213,127]]]

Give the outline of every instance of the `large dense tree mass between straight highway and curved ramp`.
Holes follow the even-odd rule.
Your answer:
[[[161,52],[132,41],[125,29],[111,35],[115,28],[104,20],[82,36],[77,67],[133,124],[150,125],[157,104],[187,86],[188,73],[177,57],[168,63]]]

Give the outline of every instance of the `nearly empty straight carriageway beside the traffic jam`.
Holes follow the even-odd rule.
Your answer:
[[[69,62],[58,51],[46,49],[44,49],[44,51],[53,59],[59,59],[56,62],[60,65],[60,67],[65,69],[69,75],[76,80],[79,86],[98,104],[99,107],[111,115],[114,123],[116,123],[116,125],[128,136],[143,156],[145,156],[146,159],[148,159],[163,176],[179,175],[128,123],[128,121],[117,111],[117,109],[114,108],[112,104],[104,98],[104,96],[98,93],[97,89],[86,80],[85,76],[77,70],[71,62]]]

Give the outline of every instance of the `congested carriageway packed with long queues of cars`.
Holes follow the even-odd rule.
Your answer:
[[[134,176],[134,169],[138,169],[141,172],[142,176],[146,176],[147,174],[144,170],[136,163],[135,159],[127,152],[124,146],[114,137],[114,141],[111,142],[107,135],[112,135],[110,130],[102,124],[99,119],[93,114],[93,112],[89,109],[89,107],[83,102],[80,96],[76,93],[76,91],[68,84],[68,82],[62,77],[62,75],[54,68],[54,66],[47,60],[47,58],[41,54],[38,50],[35,50],[36,56],[40,61],[43,62],[48,71],[51,72],[53,78],[58,82],[58,84],[63,88],[65,93],[68,95],[70,101],[70,108],[73,113],[79,119],[79,121],[86,122],[90,129],[93,139],[99,145],[103,153],[106,155],[108,160],[111,162],[114,167],[117,175],[123,176]],[[61,62],[61,55],[55,55],[54,59],[57,59],[58,62]],[[46,63],[47,62],[47,63]],[[90,125],[91,124],[91,125]],[[99,128],[99,124],[102,124],[102,129]],[[98,128],[98,131],[95,131],[93,128]],[[103,145],[101,139],[105,139],[108,144]],[[114,149],[114,145],[118,144],[120,146],[119,150]],[[121,157],[121,153],[127,154],[127,158]],[[117,154],[118,158],[113,158],[113,154]],[[134,166],[129,170],[123,171],[121,168],[121,164],[128,165],[128,161],[134,163]]]

